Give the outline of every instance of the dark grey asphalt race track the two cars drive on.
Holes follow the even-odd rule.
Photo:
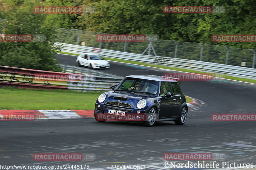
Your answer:
[[[62,64],[76,65],[76,56],[58,54],[57,60]],[[109,63],[110,69],[101,71],[121,76],[175,72],[127,63]],[[219,157],[205,160],[205,163],[217,160],[220,168],[225,163],[225,168],[234,162],[256,164],[255,121],[211,120],[212,114],[256,114],[256,85],[217,79],[183,81],[181,89],[184,94],[204,103],[203,107],[188,112],[184,125],[157,122],[153,127],[143,127],[128,122],[101,123],[94,118],[1,121],[0,162],[9,166],[89,165],[91,170],[104,170],[117,167],[114,165],[132,165],[130,169],[162,170],[170,169],[164,168],[164,162],[171,162],[163,160],[164,153],[207,152]],[[35,161],[32,157],[35,153],[91,153],[96,155],[96,159]],[[185,160],[172,162],[187,163]],[[197,160],[190,162],[197,163]],[[141,168],[137,165],[141,165]]]

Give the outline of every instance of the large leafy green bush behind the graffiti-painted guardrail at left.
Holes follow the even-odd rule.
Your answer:
[[[60,50],[54,46],[55,28],[44,23],[43,14],[33,13],[31,2],[24,3],[10,13],[4,23],[4,34],[43,34],[45,41],[0,42],[0,63],[5,66],[36,70],[60,71],[54,55]],[[44,24],[42,24],[44,23]]]

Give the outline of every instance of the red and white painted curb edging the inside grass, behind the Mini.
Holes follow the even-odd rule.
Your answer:
[[[187,103],[188,110],[202,107],[199,100]],[[33,119],[67,119],[94,117],[94,110],[0,110],[0,120],[23,119],[24,116],[32,116]],[[23,116],[23,117],[22,117]]]

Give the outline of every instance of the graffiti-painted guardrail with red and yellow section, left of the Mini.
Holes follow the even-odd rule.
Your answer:
[[[122,77],[107,77],[107,75],[93,76],[0,66],[0,87],[106,91],[111,85],[118,84],[121,79]]]

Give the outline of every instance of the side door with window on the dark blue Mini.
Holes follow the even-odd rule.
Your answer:
[[[169,98],[164,97],[164,94],[172,94],[171,82],[161,82],[160,96],[163,96],[160,103],[159,118],[175,117],[179,114],[179,104],[177,96],[171,96]]]

